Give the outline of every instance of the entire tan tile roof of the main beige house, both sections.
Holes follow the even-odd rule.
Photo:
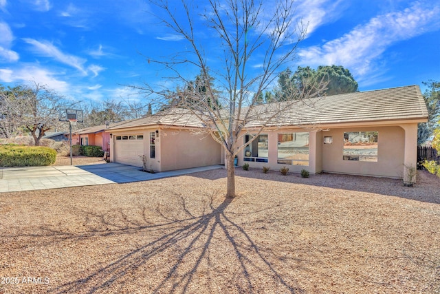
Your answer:
[[[270,103],[254,107],[245,122],[246,127],[259,127],[276,114],[266,125],[327,125],[336,123],[368,123],[373,121],[415,120],[428,118],[420,88],[417,85],[384,90],[355,92],[298,101],[279,114],[286,103]],[[245,110],[245,109],[243,109]],[[176,127],[204,127],[205,125],[187,109],[168,109],[164,112],[126,120],[109,129],[169,125]]]

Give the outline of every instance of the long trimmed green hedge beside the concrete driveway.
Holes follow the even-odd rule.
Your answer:
[[[49,147],[0,145],[0,167],[39,167],[55,160],[56,151]]]

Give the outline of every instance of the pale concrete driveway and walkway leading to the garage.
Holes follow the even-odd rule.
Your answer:
[[[0,168],[0,193],[139,182],[221,168],[221,165],[212,165],[150,174],[141,171],[140,167],[113,162],[101,165],[6,167]]]

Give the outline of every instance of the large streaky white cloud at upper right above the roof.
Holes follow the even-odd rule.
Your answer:
[[[343,65],[362,78],[378,66],[382,54],[394,43],[438,29],[439,14],[439,7],[423,7],[415,2],[405,10],[374,17],[339,39],[300,50],[300,63]]]

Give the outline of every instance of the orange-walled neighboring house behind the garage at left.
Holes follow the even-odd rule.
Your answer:
[[[127,120],[109,125],[96,125],[72,132],[72,145],[94,145],[102,147],[102,151],[110,151],[110,135],[104,132],[108,127],[113,127]]]

